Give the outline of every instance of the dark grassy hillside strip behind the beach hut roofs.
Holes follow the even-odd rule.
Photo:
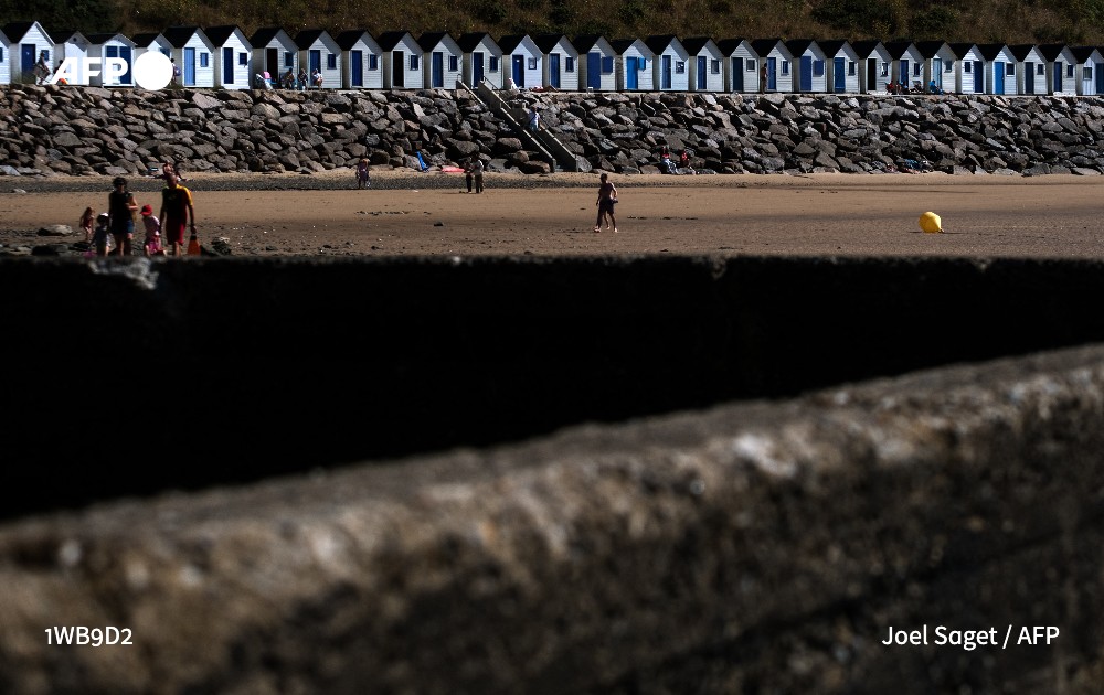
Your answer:
[[[1104,44],[1104,0],[0,0],[0,23],[136,33],[176,24]]]

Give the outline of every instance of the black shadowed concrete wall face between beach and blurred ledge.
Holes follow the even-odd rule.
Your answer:
[[[0,514],[1104,340],[1096,261],[0,261]]]

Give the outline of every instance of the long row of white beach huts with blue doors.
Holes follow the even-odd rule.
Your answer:
[[[485,32],[414,38],[322,29],[289,35],[279,28],[251,36],[237,26],[172,26],[125,36],[51,32],[36,21],[0,26],[0,85],[33,82],[45,58],[117,57],[130,66],[160,51],[180,70],[179,86],[250,89],[278,86],[287,71],[321,74],[323,89],[454,88],[486,79],[496,88],[565,92],[884,93],[890,85],[957,94],[1104,94],[1104,53],[1065,44],[974,44],[942,41],[782,39],[607,40],[599,35]],[[76,84],[132,86],[130,71],[110,84],[78,75]],[[71,83],[72,84],[72,83]]]

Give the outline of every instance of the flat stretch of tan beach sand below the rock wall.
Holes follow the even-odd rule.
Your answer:
[[[306,181],[306,184],[305,184]],[[458,174],[351,171],[194,175],[201,240],[234,255],[817,255],[1104,257],[1104,177],[930,174],[613,175],[618,234],[593,229],[596,174],[489,173],[484,194]],[[0,182],[0,244],[42,244],[46,224],[76,225],[103,209],[108,179],[88,192]],[[102,185],[100,185],[102,183]],[[256,185],[254,185],[256,184]],[[157,209],[159,183],[136,181]],[[317,185],[319,190],[301,189]],[[220,190],[236,188],[243,190]],[[268,190],[259,190],[259,189]],[[944,234],[923,234],[933,211]],[[75,237],[74,237],[75,238]]]

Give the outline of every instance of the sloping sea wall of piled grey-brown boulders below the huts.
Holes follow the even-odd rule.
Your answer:
[[[1098,97],[512,93],[583,170],[658,173],[691,148],[718,173],[1104,172]],[[466,92],[0,89],[0,174],[322,171],[458,163],[550,171]]]

